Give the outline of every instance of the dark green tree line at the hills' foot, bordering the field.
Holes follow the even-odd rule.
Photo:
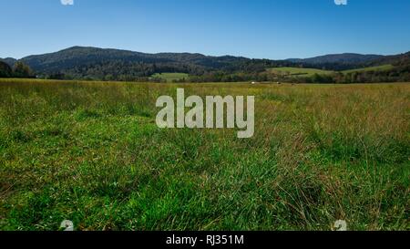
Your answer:
[[[49,72],[36,73],[23,61],[17,61],[14,67],[0,61],[0,78],[48,78],[82,79],[108,81],[162,82],[160,78],[151,78],[157,73],[186,73],[189,78],[175,82],[292,82],[292,83],[376,83],[409,82],[410,58],[405,57],[389,70],[354,71],[350,73],[314,74],[309,77],[286,76],[267,71],[270,67],[295,67],[292,62],[273,62],[272,60],[238,61],[219,69],[211,69],[182,62],[144,63],[124,60],[107,61],[68,67]],[[303,67],[300,65],[299,67]]]

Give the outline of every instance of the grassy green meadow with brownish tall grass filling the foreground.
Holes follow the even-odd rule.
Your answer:
[[[160,95],[254,95],[255,135],[159,130]],[[0,80],[0,230],[409,229],[410,84]]]

